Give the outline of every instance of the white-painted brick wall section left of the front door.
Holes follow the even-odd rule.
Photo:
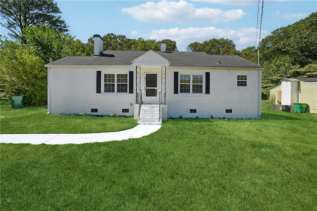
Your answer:
[[[129,71],[133,71],[134,68],[132,66],[126,68],[50,68],[49,112],[60,114],[85,112],[99,115],[115,113],[116,115],[132,116],[135,104],[135,86],[134,94],[98,94],[96,93],[98,70],[102,71],[103,92],[103,78],[106,72],[129,74]],[[91,113],[92,108],[97,108],[98,112]],[[129,109],[129,112],[122,113],[122,108]]]

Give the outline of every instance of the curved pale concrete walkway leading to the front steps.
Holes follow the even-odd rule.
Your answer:
[[[134,128],[108,133],[84,134],[0,134],[0,143],[13,144],[83,144],[120,141],[147,136],[161,125],[137,125]]]

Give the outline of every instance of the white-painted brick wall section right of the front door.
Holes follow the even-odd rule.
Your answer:
[[[173,73],[178,74],[203,74],[210,72],[210,94],[190,95],[173,94]],[[188,68],[167,69],[166,74],[166,105],[167,116],[210,118],[258,118],[258,71],[248,70],[219,70],[203,69],[193,72]],[[237,75],[247,75],[247,87],[237,87]],[[205,80],[204,80],[205,81]],[[205,85],[203,87],[205,93]],[[190,113],[190,109],[197,109],[197,113]],[[226,113],[232,109],[232,113]]]

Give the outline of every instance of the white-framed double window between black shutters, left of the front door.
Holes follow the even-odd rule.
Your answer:
[[[127,93],[128,74],[105,74],[105,89],[107,93]]]

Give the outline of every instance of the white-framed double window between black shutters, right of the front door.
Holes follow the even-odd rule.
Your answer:
[[[203,75],[180,75],[180,93],[203,93]]]

